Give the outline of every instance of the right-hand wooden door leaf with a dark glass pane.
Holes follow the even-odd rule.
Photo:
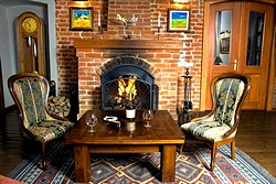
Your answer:
[[[246,35],[247,39],[246,42],[240,41],[240,45],[245,44],[246,50],[240,52],[238,73],[248,76],[252,80],[251,93],[244,107],[264,110],[268,87],[274,9],[267,4],[244,2],[243,10],[244,29],[241,30],[241,37]]]

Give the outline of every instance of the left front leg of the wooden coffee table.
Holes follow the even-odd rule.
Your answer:
[[[87,145],[74,145],[75,176],[77,183],[88,183],[91,180],[91,155]]]

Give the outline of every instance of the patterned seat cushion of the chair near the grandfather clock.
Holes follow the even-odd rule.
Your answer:
[[[73,125],[70,121],[44,120],[33,123],[28,130],[33,133],[36,141],[44,142],[64,136]]]

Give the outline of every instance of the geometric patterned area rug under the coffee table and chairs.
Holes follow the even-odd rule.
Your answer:
[[[41,170],[41,156],[23,161],[10,177],[25,184],[72,184],[74,176],[74,155],[70,145],[55,143],[49,151],[49,170]],[[187,141],[184,153],[177,154],[176,182],[197,184],[251,183],[272,184],[276,178],[266,172],[241,150],[236,160],[230,159],[229,145],[219,148],[214,172],[210,172],[210,149],[205,143]],[[160,184],[160,154],[92,154],[93,184]]]

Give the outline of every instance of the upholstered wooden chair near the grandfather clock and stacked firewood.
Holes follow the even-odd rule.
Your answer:
[[[74,126],[47,111],[49,80],[38,73],[20,73],[8,79],[19,109],[23,134],[42,143],[42,166],[46,170],[46,143],[61,138]]]

